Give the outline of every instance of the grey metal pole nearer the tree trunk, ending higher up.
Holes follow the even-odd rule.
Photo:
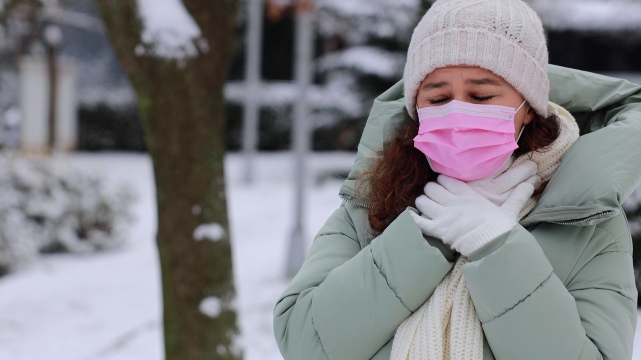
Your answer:
[[[263,50],[263,0],[247,0],[247,40],[245,51],[245,99],[243,106],[242,147],[245,154],[243,179],[254,180],[254,157],[258,146],[258,119],[260,111],[260,63]]]

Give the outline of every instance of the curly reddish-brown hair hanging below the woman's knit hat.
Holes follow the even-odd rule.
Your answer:
[[[414,206],[425,184],[437,178],[438,174],[429,167],[425,155],[414,147],[413,139],[418,132],[419,122],[409,120],[394,140],[378,152],[378,160],[372,169],[358,177],[356,191],[365,192],[369,199],[368,220],[374,235],[382,233],[408,206]],[[514,154],[545,152],[559,133],[560,122],[556,115],[541,117],[535,113],[533,121],[523,130]],[[542,193],[546,185],[537,188],[535,195]]]

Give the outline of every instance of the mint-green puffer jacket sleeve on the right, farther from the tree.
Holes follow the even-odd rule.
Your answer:
[[[558,231],[558,225],[540,225]],[[585,246],[600,250],[595,256],[584,250],[592,256],[579,257],[566,283],[520,225],[495,239],[496,249],[475,252],[463,266],[497,360],[631,359],[637,323],[631,240],[627,234],[613,238],[613,231],[601,225],[592,229]]]

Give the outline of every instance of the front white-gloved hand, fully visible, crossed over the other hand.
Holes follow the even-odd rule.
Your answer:
[[[422,213],[410,215],[421,231],[434,236],[464,256],[497,236],[512,230],[519,212],[534,192],[534,186],[518,184],[503,205],[496,206],[453,177],[439,175],[437,183],[425,186],[425,194],[416,199]]]

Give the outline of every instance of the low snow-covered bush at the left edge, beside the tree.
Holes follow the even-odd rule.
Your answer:
[[[117,247],[132,200],[128,188],[110,190],[63,160],[0,154],[0,275],[38,253]]]

